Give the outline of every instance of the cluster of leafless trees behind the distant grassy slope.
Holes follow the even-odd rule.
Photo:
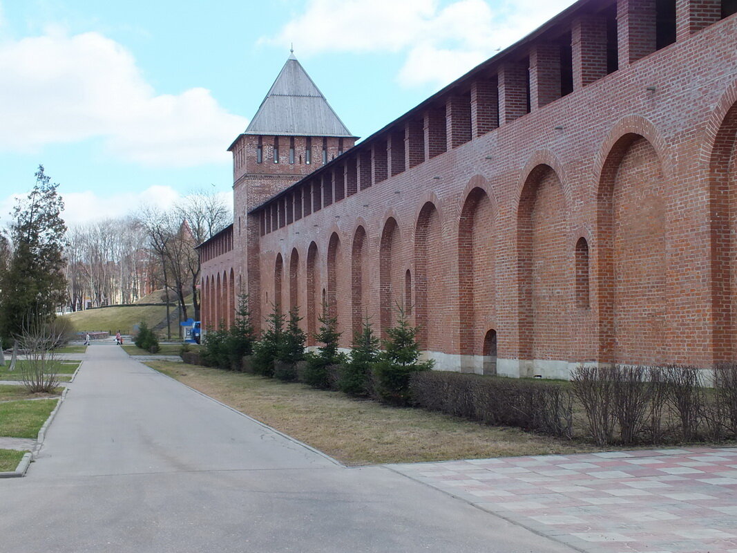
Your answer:
[[[175,294],[181,318],[200,318],[200,259],[195,246],[231,222],[225,202],[214,193],[195,192],[172,209],[141,209],[119,219],[70,229],[66,280],[72,310],[132,303],[144,288]],[[0,244],[1,246],[1,244]],[[1,251],[0,251],[1,254]],[[167,306],[167,318],[169,316]],[[169,333],[170,335],[170,333]]]

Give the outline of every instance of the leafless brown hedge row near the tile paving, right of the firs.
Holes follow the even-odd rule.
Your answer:
[[[417,372],[411,403],[598,445],[737,438],[737,364],[579,366],[570,382]]]

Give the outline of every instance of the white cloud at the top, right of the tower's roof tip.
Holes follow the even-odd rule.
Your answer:
[[[262,41],[298,52],[400,53],[403,86],[445,85],[513,44],[574,0],[308,0]]]

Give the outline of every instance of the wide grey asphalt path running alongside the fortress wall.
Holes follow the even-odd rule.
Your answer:
[[[387,467],[346,468],[93,344],[0,552],[571,552]]]

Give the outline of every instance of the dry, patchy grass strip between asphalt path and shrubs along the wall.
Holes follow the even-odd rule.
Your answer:
[[[167,361],[147,365],[346,465],[595,451],[516,428],[354,400],[302,384]]]

